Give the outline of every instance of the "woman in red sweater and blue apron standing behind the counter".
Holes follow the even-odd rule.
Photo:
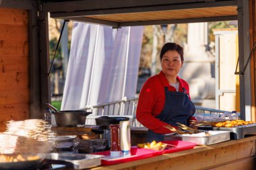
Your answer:
[[[171,132],[164,128],[166,125],[189,125],[195,113],[189,85],[178,76],[184,62],[183,48],[175,43],[164,44],[160,62],[162,71],[144,83],[137,105],[136,118],[148,128],[148,142],[164,140],[162,134]]]

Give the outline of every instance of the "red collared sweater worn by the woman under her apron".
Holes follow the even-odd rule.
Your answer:
[[[183,87],[185,87],[189,94],[189,85],[187,82],[179,77],[177,77],[177,80],[179,81],[179,91],[183,91]],[[176,91],[176,89],[168,83],[162,71],[158,75],[148,78],[139,93],[136,111],[137,120],[146,128],[159,134],[168,134],[171,132],[163,127],[168,125],[166,122],[162,122],[156,118],[164,109],[164,87],[168,87],[169,91]]]

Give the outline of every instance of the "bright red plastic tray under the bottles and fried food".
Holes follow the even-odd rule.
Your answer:
[[[110,151],[103,151],[99,153],[94,153],[96,155],[104,155],[101,159],[102,165],[114,165],[118,163],[127,163],[130,161],[136,161],[139,159],[146,159],[149,157],[154,157],[158,155],[162,155],[165,153],[174,153],[178,151],[185,151],[187,149],[193,148],[196,144],[192,142],[186,142],[181,140],[173,140],[173,141],[163,141],[163,143],[171,144],[172,146],[167,146],[164,151],[156,151],[149,148],[137,148],[137,146],[131,147],[131,156],[127,157],[110,157]]]

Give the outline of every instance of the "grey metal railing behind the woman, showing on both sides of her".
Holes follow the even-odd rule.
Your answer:
[[[85,110],[92,112],[91,115],[86,117],[86,124],[96,124],[95,118],[100,116],[125,116],[130,118],[131,126],[141,127],[136,119],[136,108],[137,108],[138,97],[131,99],[123,99],[119,101],[112,101],[109,103],[101,103],[98,105],[86,106]],[[225,110],[216,110],[211,108],[203,108],[195,105],[196,115],[212,115],[212,114],[224,114],[231,113]]]

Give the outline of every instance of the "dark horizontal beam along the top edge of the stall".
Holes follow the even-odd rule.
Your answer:
[[[47,12],[61,12],[61,11],[88,11],[88,10],[98,10],[98,9],[134,9],[136,11],[143,11],[141,7],[146,7],[145,9],[154,10],[160,8],[171,7],[173,5],[182,5],[183,8],[193,7],[193,4],[203,5],[204,7],[211,7],[216,5],[236,5],[236,1],[206,1],[205,0],[129,0],[129,1],[119,1],[119,0],[84,0],[84,1],[65,1],[65,2],[50,2],[42,3],[42,10]],[[106,10],[107,11],[107,10]]]

